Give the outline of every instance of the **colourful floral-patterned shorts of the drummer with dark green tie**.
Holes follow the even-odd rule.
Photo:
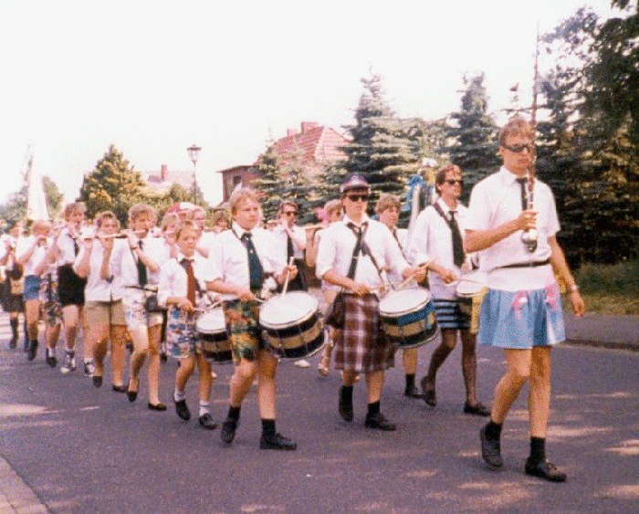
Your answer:
[[[224,314],[234,362],[243,358],[249,362],[255,361],[257,351],[267,348],[258,322],[259,303],[238,299],[226,301]]]

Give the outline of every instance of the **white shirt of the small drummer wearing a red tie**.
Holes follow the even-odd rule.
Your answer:
[[[166,299],[169,297],[186,298],[188,294],[188,284],[186,270],[182,265],[184,257],[178,253],[176,258],[170,258],[160,268],[160,283],[158,284],[158,303],[166,307]],[[191,257],[195,280],[201,291],[206,290],[206,282],[213,281],[213,267],[211,262],[201,255],[195,253]]]

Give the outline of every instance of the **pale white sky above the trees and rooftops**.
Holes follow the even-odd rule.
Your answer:
[[[72,202],[110,144],[141,171],[193,170],[215,205],[225,168],[255,162],[301,121],[353,122],[361,78],[401,117],[459,109],[483,72],[499,119],[530,97],[536,30],[609,0],[2,0],[0,202],[34,168]]]

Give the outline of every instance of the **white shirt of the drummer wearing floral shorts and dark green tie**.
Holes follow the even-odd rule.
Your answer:
[[[246,231],[236,222],[231,230],[225,230],[215,237],[215,248],[209,261],[213,267],[213,279],[222,280],[243,288],[249,287],[248,254],[240,240]],[[251,232],[253,246],[264,273],[279,275],[287,266],[286,253],[281,255],[273,234],[263,228],[254,228]],[[233,294],[222,295],[222,299],[236,299]]]

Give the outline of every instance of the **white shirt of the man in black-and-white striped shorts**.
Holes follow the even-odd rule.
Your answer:
[[[455,212],[459,232],[464,239],[468,220],[468,209],[457,203],[451,209],[440,197],[436,204],[442,209],[446,219],[450,221],[450,212]],[[453,270],[461,277],[461,267],[455,266],[453,258],[453,232],[446,220],[436,211],[434,205],[428,205],[415,220],[411,243],[406,248],[406,257],[413,266],[433,261],[436,265]],[[428,271],[428,285],[436,299],[455,299],[456,284],[446,284],[433,270]]]

